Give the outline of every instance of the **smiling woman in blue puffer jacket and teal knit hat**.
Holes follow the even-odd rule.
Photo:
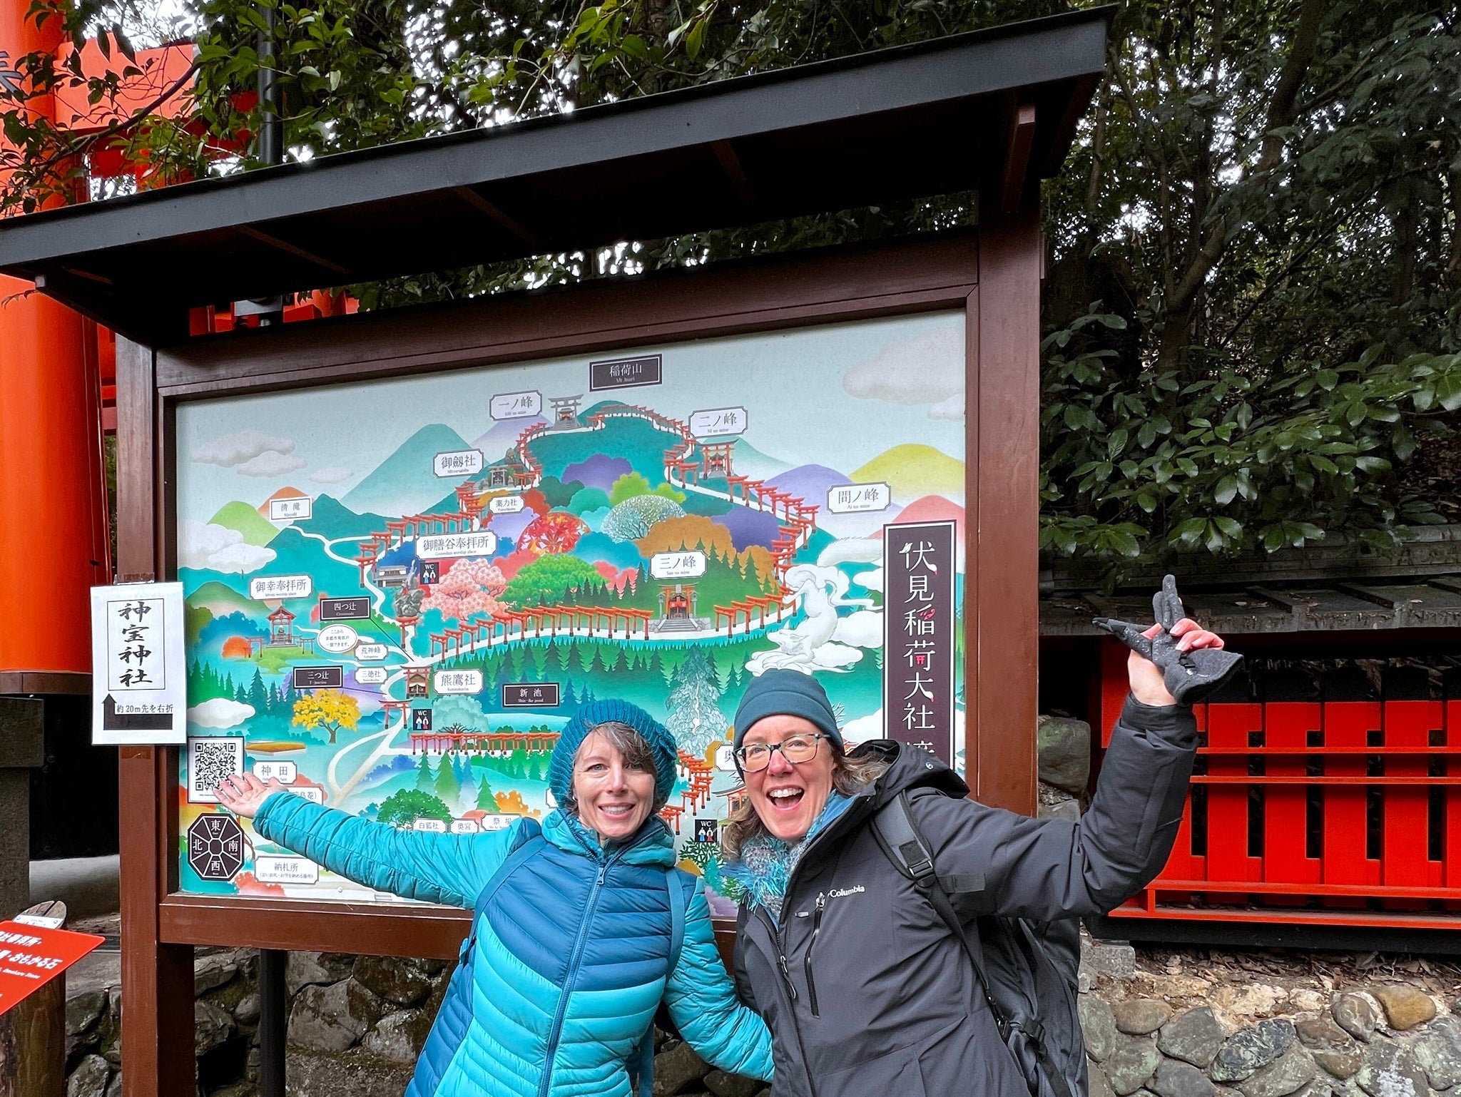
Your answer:
[[[770,1079],[766,1024],[736,998],[698,881],[674,868],[659,809],[675,765],[674,738],[644,710],[593,701],[558,739],[560,809],[541,834],[526,818],[489,834],[399,831],[253,774],[218,798],[332,872],[476,909],[406,1097],[649,1094],[660,1001],[707,1062]]]

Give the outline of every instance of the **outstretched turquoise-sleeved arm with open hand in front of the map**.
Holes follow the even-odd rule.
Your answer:
[[[330,872],[405,898],[470,907],[511,849],[513,828],[487,834],[402,831],[310,803],[251,773],[218,786],[229,811],[254,831]]]

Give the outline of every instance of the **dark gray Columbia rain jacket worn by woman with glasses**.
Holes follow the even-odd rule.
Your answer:
[[[741,910],[736,986],[771,1030],[771,1097],[1029,1097],[963,947],[878,847],[871,817],[909,790],[938,875],[983,878],[955,897],[966,917],[1105,913],[1166,863],[1195,748],[1191,708],[1128,698],[1090,811],[1071,822],[964,799],[969,786],[923,751],[859,746],[891,765],[812,838],[780,926]]]

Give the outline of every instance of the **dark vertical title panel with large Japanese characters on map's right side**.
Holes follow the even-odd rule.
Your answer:
[[[887,735],[954,764],[955,526],[882,527]]]

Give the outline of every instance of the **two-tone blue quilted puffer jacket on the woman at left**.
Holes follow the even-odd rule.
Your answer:
[[[473,906],[523,825],[399,831],[289,793],[254,817],[262,837],[337,875],[457,907]],[[453,982],[462,993],[441,1004],[406,1097],[630,1097],[628,1068],[660,999],[707,1062],[770,1079],[770,1034],[736,998],[706,897],[682,872],[672,878],[685,938],[669,970],[669,828],[650,819],[631,841],[600,847],[554,812],[543,838],[478,913],[470,979]]]

